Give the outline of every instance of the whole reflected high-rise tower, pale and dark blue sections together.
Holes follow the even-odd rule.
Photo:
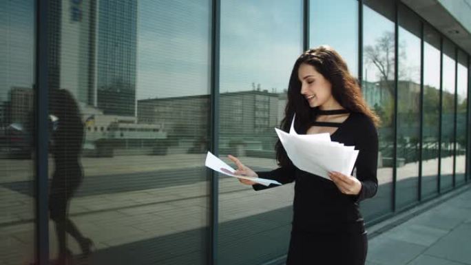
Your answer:
[[[49,24],[51,87],[104,114],[135,116],[137,2],[63,0],[52,10],[61,16]]]

